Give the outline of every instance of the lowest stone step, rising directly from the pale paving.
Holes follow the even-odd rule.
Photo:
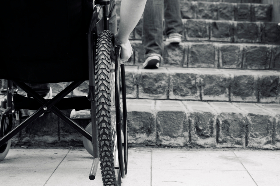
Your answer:
[[[76,121],[82,127],[89,123]],[[280,149],[279,104],[127,99],[127,127],[129,146]],[[46,113],[13,137],[12,145],[77,147],[83,142],[77,131]]]

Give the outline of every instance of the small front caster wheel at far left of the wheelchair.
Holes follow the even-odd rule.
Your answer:
[[[13,122],[13,116],[8,115],[8,117],[3,118],[4,120],[4,135],[11,130],[12,122]],[[8,142],[6,142],[4,145],[0,147],[0,161],[4,160],[4,158],[7,156],[10,147],[11,147],[12,139],[10,139]]]

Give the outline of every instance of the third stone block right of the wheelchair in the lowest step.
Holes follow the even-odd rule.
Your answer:
[[[216,147],[216,118],[214,109],[206,102],[182,101],[187,108],[190,144]]]

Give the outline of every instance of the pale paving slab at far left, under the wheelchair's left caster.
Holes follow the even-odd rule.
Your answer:
[[[67,149],[10,149],[0,168],[56,168]]]

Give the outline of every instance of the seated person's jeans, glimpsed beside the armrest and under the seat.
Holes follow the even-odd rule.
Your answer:
[[[117,12],[116,12],[116,2],[115,0],[110,1],[110,5],[108,7],[108,13],[109,13],[109,30],[115,35],[117,33]],[[103,12],[102,9],[99,12],[99,20],[102,18]],[[49,93],[50,90],[50,84],[49,83],[25,83],[30,88],[32,88],[35,92],[42,95],[43,97]],[[29,96],[29,95],[28,95]]]

